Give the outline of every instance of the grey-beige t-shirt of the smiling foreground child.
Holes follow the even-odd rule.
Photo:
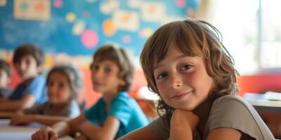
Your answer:
[[[162,139],[169,139],[169,127],[160,118],[150,123],[149,127]],[[237,95],[226,95],[214,101],[202,139],[207,139],[211,130],[218,127],[240,130],[258,140],[274,139],[254,107]],[[195,139],[201,140],[200,137]]]

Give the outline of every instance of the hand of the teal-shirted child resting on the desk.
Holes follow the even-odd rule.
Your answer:
[[[58,134],[55,133],[52,127],[44,127],[32,134],[32,140],[55,140],[58,139]]]

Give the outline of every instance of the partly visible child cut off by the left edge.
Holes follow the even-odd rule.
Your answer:
[[[5,99],[10,96],[12,90],[9,87],[9,83],[11,82],[12,70],[11,66],[4,61],[4,59],[0,59],[0,98]]]

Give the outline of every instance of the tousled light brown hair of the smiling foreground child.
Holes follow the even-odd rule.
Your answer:
[[[214,87],[209,92],[211,102],[226,94],[237,94],[236,76],[239,73],[234,68],[233,57],[221,43],[221,33],[208,22],[190,19],[163,25],[146,41],[141,52],[141,65],[152,92],[159,95],[153,76],[155,64],[164,59],[171,45],[185,55],[203,58],[206,71],[214,80]],[[159,116],[169,120],[173,110],[159,98]]]

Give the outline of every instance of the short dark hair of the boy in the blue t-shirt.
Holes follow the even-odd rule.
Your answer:
[[[40,50],[37,45],[32,43],[25,43],[19,45],[18,48],[15,49],[13,55],[13,63],[16,64],[22,59],[22,57],[26,55],[32,55],[37,62],[37,66],[41,66],[44,64],[44,52]]]

